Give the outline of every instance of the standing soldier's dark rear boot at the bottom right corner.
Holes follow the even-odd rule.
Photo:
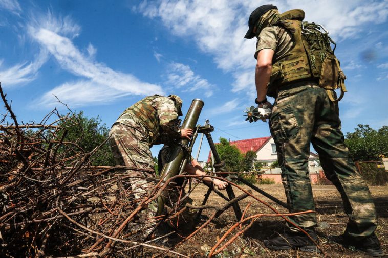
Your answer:
[[[371,236],[361,240],[355,240],[347,233],[339,236],[329,236],[328,239],[346,248],[354,247],[355,249],[363,251],[365,254],[372,257],[382,257],[385,255],[381,249],[380,241],[374,232]]]

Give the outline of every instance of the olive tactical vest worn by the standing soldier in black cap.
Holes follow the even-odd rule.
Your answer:
[[[303,11],[301,11],[303,16],[289,12],[287,15],[282,14],[281,19],[272,25],[282,27],[291,33],[293,48],[272,65],[267,95],[275,97],[279,87],[293,82],[311,81],[326,89],[332,101],[339,101],[343,92],[347,91],[343,83],[346,77],[339,68],[339,61],[330,45],[334,41],[327,33],[319,30],[321,26],[302,22]],[[341,96],[335,99],[334,89],[339,87]]]

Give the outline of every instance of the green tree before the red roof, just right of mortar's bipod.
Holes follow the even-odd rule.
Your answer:
[[[220,137],[220,143],[215,145],[222,161],[225,162],[230,172],[241,172],[243,155],[234,145],[230,145],[228,140]]]

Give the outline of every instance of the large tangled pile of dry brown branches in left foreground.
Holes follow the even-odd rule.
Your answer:
[[[19,125],[1,86],[0,93],[6,111],[0,118],[0,252],[7,257],[187,257],[174,248],[194,236],[233,201],[247,196],[261,201],[245,191],[222,207],[191,206],[210,208],[214,213],[175,246],[161,247],[157,241],[167,236],[153,232],[144,236],[144,228],[151,220],[159,223],[176,217],[179,209],[169,209],[169,214],[147,220],[140,219],[138,214],[169,182],[193,176],[159,181],[148,196],[134,199],[131,189],[125,187],[127,167],[92,166],[93,155],[101,146],[85,152],[78,140],[64,141],[68,127],[79,126],[74,114],[60,116],[54,110],[39,123]],[[280,216],[274,212],[272,216]],[[268,215],[251,216],[236,223],[209,255],[222,251],[261,216]],[[243,227],[248,220],[251,223]],[[237,230],[234,237],[233,230]],[[228,240],[229,235],[232,237]],[[224,240],[228,242],[222,245]]]

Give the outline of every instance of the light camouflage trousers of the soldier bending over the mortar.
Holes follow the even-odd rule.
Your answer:
[[[114,124],[109,132],[109,145],[117,165],[131,166],[140,169],[154,171],[154,159],[148,146],[147,137],[132,127],[123,124]],[[149,196],[155,187],[155,181],[146,178],[154,178],[154,172],[127,170],[128,180],[123,181],[123,189],[131,189],[135,202]],[[144,178],[146,177],[146,178]],[[153,201],[145,210],[142,210],[140,220],[144,222],[146,236],[154,229],[153,219],[158,210],[157,201]]]

